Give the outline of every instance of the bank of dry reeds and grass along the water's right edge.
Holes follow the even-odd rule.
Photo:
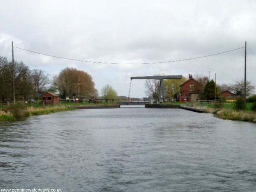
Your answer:
[[[256,123],[256,112],[250,110],[235,110],[233,108],[212,108],[205,109],[207,113],[213,113],[216,117],[221,119],[230,119],[236,121],[246,121]]]

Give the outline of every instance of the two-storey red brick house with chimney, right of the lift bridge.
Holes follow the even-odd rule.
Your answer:
[[[193,76],[189,74],[189,79],[180,85],[180,101],[196,101],[198,100],[199,91],[198,90],[199,83]]]

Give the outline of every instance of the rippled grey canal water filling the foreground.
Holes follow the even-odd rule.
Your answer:
[[[0,122],[0,189],[256,191],[256,124],[182,109],[87,109]]]

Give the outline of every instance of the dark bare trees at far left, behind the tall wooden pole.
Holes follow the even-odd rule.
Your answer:
[[[49,75],[42,70],[30,70],[22,61],[14,61],[14,71],[12,62],[0,56],[0,99],[13,99],[13,78],[15,76],[15,98],[34,98],[36,93],[42,93],[49,84]]]

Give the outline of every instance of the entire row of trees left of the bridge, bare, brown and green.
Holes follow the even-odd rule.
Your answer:
[[[13,68],[15,76],[15,98],[17,100],[37,99],[44,92],[58,92],[62,99],[96,98],[99,97],[92,76],[75,68],[65,68],[58,75],[49,79],[49,74],[43,70],[30,70],[22,61],[8,61],[0,56],[0,100],[13,100]],[[110,85],[101,90],[103,99],[117,99],[117,93]]]

